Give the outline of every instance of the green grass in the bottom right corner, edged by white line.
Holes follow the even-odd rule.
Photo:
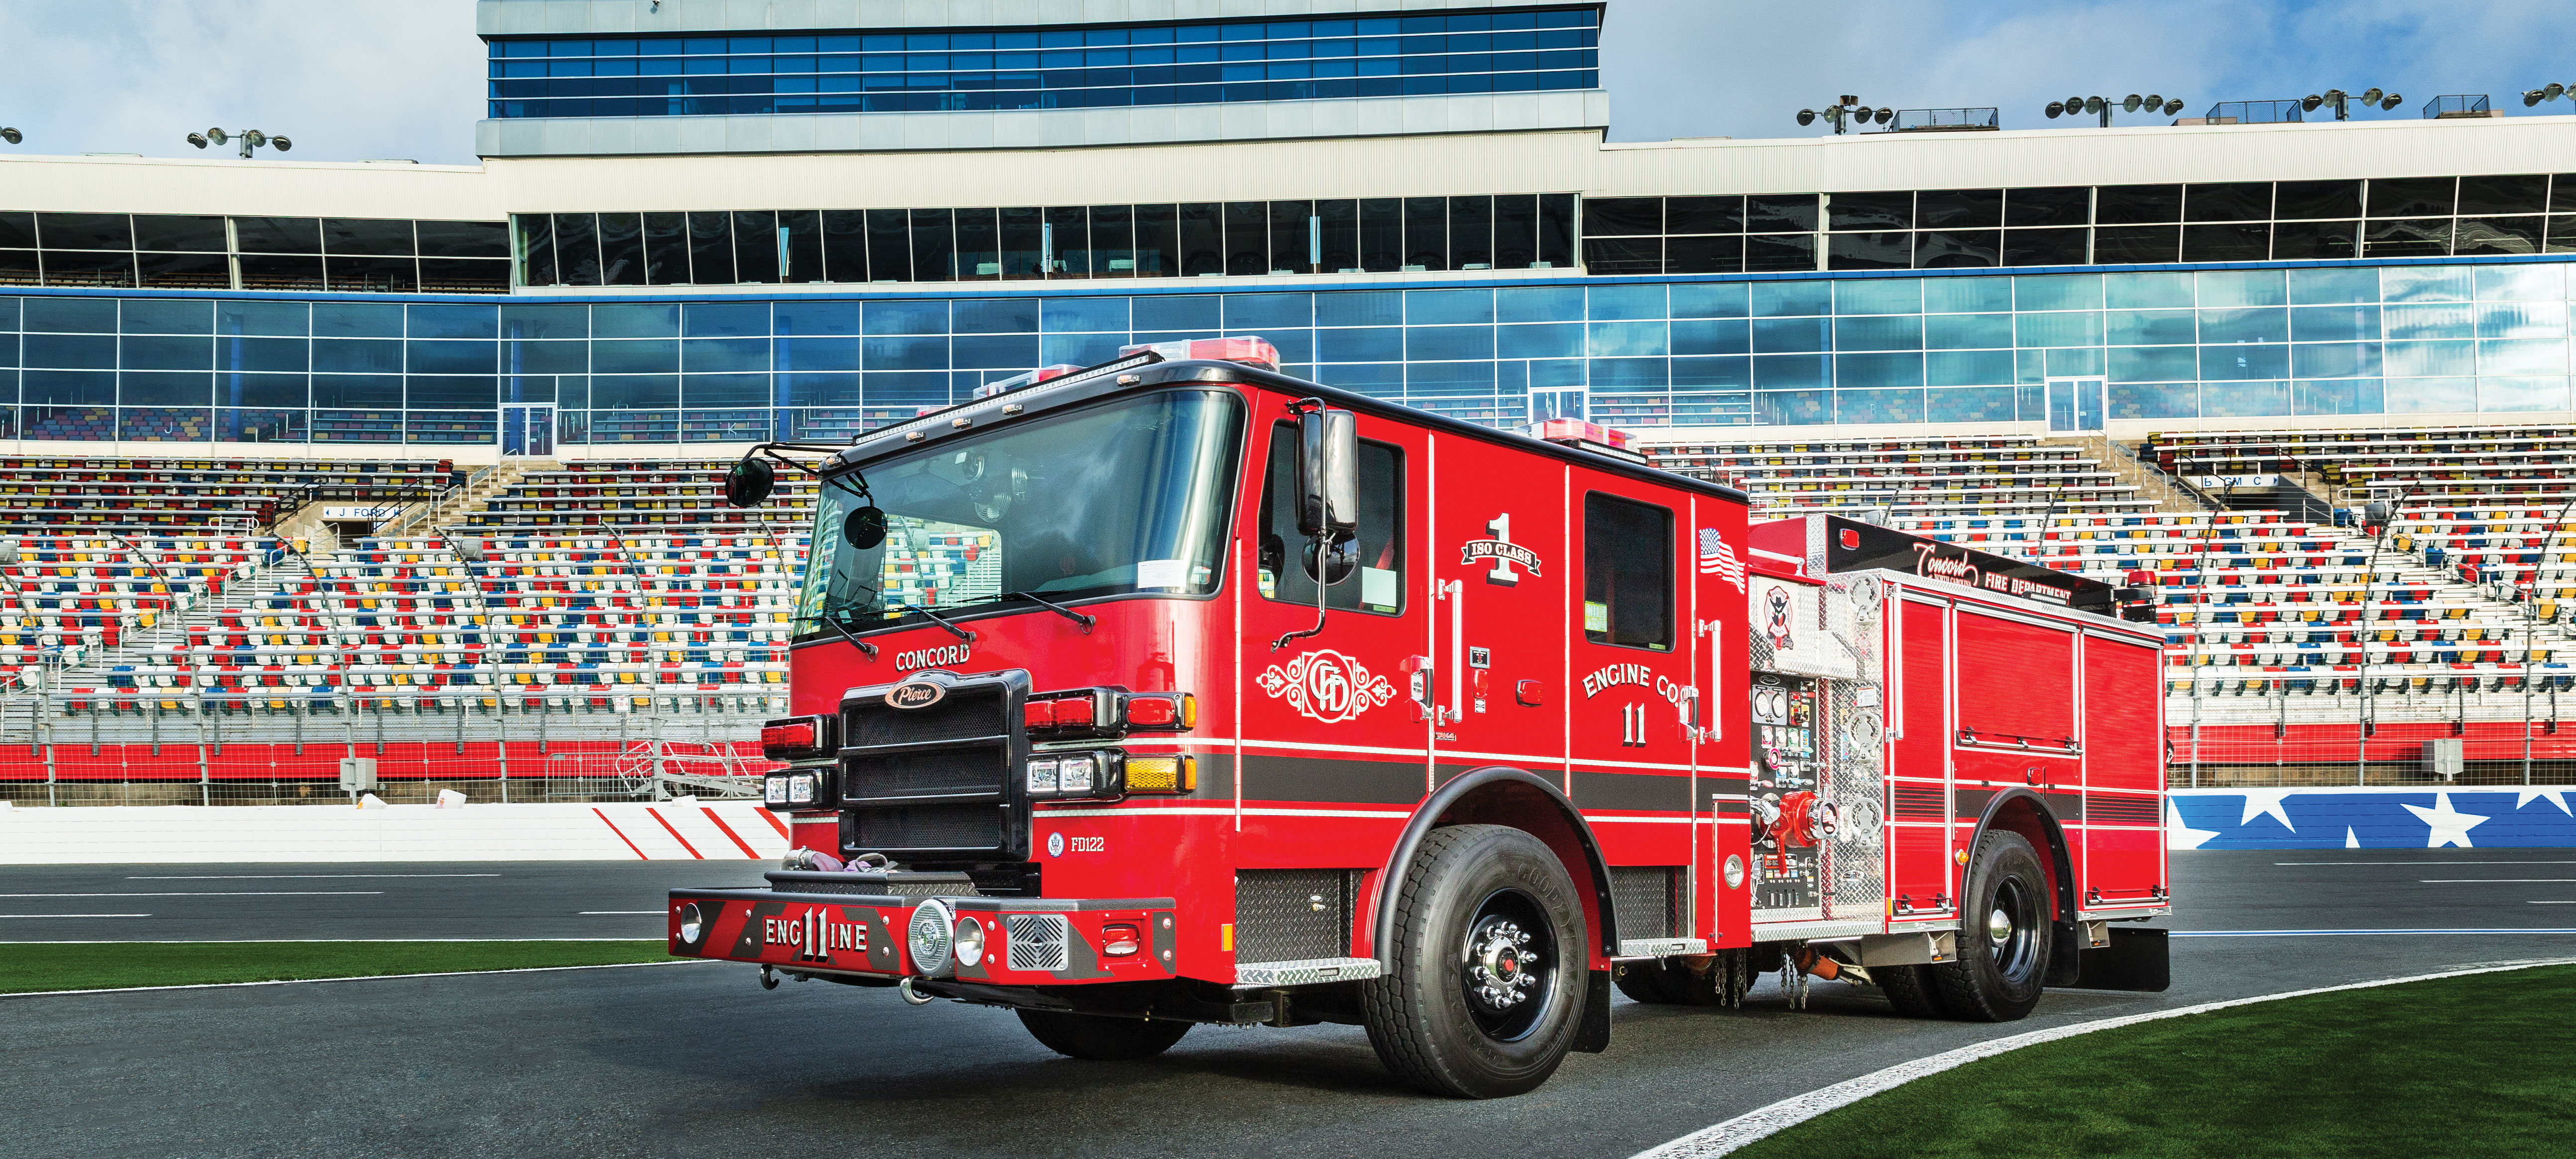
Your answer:
[[[2576,1154],[2571,1071],[2576,968],[2545,966],[2257,1002],[2030,1046],[1736,1154],[2566,1156]]]

